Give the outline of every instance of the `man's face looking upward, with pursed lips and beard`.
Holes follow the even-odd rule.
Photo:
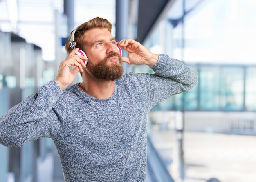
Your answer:
[[[94,28],[85,34],[85,53],[88,57],[86,69],[97,79],[118,79],[123,74],[121,56],[116,40],[108,29]]]

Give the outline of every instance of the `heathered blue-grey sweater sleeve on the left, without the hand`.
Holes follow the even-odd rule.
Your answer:
[[[51,137],[58,127],[52,107],[62,93],[58,83],[52,80],[38,88],[37,94],[12,107],[0,119],[0,143],[22,147],[31,140]]]

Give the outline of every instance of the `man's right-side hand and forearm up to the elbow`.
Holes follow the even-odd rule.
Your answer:
[[[184,85],[191,85],[192,88],[198,81],[198,74],[181,61],[170,58],[165,54],[154,54],[133,39],[123,39],[117,42],[117,45],[129,53],[128,58],[122,57],[123,62],[135,65],[146,64],[150,66],[157,75],[171,78]]]

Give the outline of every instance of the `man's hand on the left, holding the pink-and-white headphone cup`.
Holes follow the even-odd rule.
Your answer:
[[[76,55],[78,50],[79,48],[72,50],[67,58],[60,64],[55,80],[62,90],[74,81],[77,72],[83,72],[83,68],[86,67],[84,61],[88,59],[82,55]],[[75,67],[70,69],[71,66]]]

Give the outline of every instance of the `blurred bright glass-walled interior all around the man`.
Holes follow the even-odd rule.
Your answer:
[[[254,0],[0,0],[0,116],[55,78],[70,32],[96,16],[199,75],[150,112],[147,182],[255,182]],[[51,139],[0,145],[0,182],[63,181]]]

